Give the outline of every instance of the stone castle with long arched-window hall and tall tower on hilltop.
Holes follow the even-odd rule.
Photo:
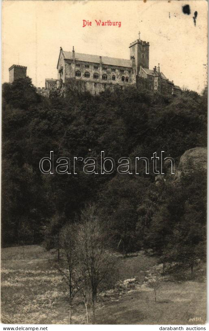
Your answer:
[[[37,93],[49,96],[51,91],[57,90],[64,94],[65,90],[76,88],[82,92],[98,94],[116,86],[123,89],[130,85],[164,95],[183,93],[179,86],[174,85],[160,71],[159,64],[153,70],[149,69],[149,42],[141,40],[140,33],[139,39],[132,42],[129,49],[130,59],[126,60],[77,53],[74,47],[71,52],[67,52],[60,47],[57,79],[47,78],[45,87],[37,88]]]

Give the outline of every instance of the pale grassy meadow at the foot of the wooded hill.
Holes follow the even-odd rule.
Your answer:
[[[68,306],[60,291],[60,276],[53,269],[51,255],[40,246],[2,249],[1,313],[3,323],[68,324]],[[102,293],[96,308],[98,324],[202,324],[206,319],[206,283],[198,277],[204,267],[194,270],[192,279],[167,278],[157,291],[143,283],[156,260],[139,256],[118,257],[120,286]],[[131,282],[127,279],[132,278]],[[189,279],[189,270],[188,270]],[[90,313],[91,315],[91,313]],[[196,319],[197,320],[195,322]],[[73,323],[83,324],[85,308],[75,300]]]

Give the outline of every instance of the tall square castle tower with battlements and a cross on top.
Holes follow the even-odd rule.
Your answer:
[[[149,69],[149,42],[142,41],[139,32],[139,39],[132,42],[129,48],[131,59],[135,58],[136,75],[138,76],[140,66]]]

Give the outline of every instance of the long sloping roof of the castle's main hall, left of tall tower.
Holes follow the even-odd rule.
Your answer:
[[[72,52],[63,51],[63,54],[65,59],[69,59],[69,60],[72,59]],[[75,52],[75,60],[100,63],[100,57],[98,55],[82,54],[76,52]],[[108,56],[102,56],[102,64],[131,68],[131,60],[110,58]]]

